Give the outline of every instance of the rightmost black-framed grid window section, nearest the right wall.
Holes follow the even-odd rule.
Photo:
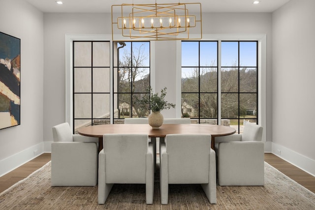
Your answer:
[[[221,118],[258,122],[258,41],[221,41]]]

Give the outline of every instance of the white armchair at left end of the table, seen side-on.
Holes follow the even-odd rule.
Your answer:
[[[52,129],[51,185],[95,186],[98,139],[72,134],[67,122]]]

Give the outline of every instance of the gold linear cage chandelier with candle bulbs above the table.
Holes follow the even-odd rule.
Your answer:
[[[139,40],[201,39],[201,3],[112,5],[113,41],[126,41],[126,37]]]

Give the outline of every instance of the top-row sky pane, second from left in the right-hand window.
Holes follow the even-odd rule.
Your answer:
[[[217,66],[217,52],[217,42],[200,42],[200,66]]]

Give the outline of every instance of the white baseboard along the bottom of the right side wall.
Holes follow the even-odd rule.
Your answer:
[[[315,177],[315,160],[275,143],[272,153]]]

